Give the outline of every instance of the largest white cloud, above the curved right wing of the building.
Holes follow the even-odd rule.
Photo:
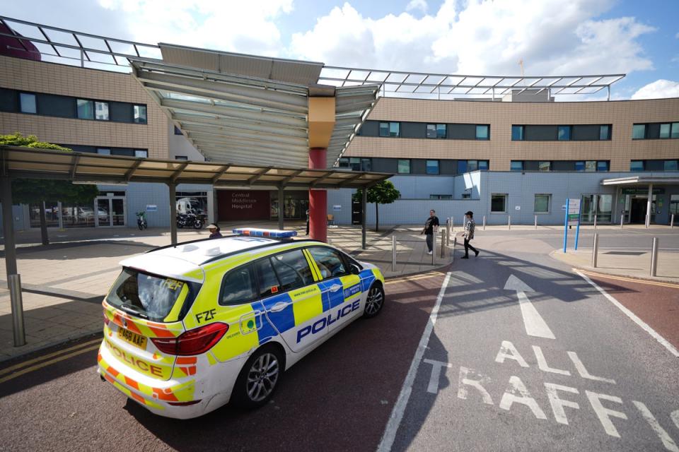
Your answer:
[[[655,29],[596,20],[613,0],[446,0],[439,11],[366,18],[349,3],[296,33],[291,57],[372,69],[518,75],[652,69],[637,42]]]

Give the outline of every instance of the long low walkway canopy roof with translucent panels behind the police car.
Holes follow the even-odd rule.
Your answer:
[[[215,187],[359,189],[392,174],[344,169],[253,166],[185,162],[0,146],[0,175],[13,178],[69,179],[92,184],[156,182],[211,184]]]

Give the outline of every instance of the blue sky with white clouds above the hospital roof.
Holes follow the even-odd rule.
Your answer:
[[[679,0],[23,0],[0,15],[330,66],[626,73],[611,99],[679,97]]]

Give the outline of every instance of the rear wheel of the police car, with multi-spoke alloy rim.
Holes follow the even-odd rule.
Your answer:
[[[276,391],[283,368],[282,353],[276,347],[257,350],[238,374],[233,386],[233,403],[246,409],[265,405]]]

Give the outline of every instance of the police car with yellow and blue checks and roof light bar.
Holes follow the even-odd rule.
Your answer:
[[[284,370],[384,304],[381,271],[293,231],[164,246],[121,262],[98,373],[158,415],[256,408]]]

